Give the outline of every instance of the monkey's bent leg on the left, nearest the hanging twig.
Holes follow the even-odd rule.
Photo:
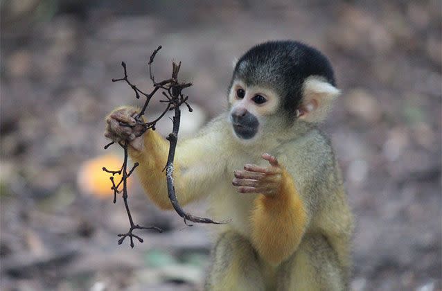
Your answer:
[[[257,254],[238,233],[222,233],[211,256],[205,290],[264,290]]]

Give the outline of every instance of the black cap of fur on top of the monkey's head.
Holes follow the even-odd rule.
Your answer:
[[[234,80],[259,85],[283,97],[283,108],[291,114],[302,98],[302,86],[309,76],[321,76],[335,86],[330,62],[317,49],[290,40],[265,42],[247,51],[236,63]]]

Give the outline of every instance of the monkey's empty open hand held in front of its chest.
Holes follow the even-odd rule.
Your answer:
[[[283,168],[276,157],[263,154],[263,159],[269,161],[269,167],[260,167],[246,164],[244,170],[233,172],[235,178],[233,186],[238,186],[239,193],[260,193],[265,196],[274,196],[281,188]]]

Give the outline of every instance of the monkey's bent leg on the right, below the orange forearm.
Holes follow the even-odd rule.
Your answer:
[[[307,234],[277,274],[277,290],[347,290],[345,270],[335,250],[321,234]]]

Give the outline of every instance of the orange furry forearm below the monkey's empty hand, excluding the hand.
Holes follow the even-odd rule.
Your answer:
[[[254,206],[252,243],[265,261],[278,265],[297,249],[307,222],[305,206],[287,170],[278,193],[260,195]]]

